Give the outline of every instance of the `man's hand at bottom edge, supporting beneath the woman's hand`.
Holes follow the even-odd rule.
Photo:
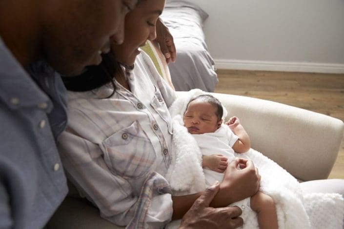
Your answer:
[[[238,207],[212,208],[210,202],[219,191],[219,182],[207,188],[182,218],[180,229],[234,229],[243,226]]]

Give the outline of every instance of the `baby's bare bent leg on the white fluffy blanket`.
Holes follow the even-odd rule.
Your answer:
[[[270,196],[258,191],[250,202],[251,209],[257,212],[260,229],[278,229],[275,203]]]

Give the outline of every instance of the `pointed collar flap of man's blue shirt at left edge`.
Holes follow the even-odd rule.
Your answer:
[[[0,100],[10,109],[48,103],[49,97],[24,70],[0,37]]]

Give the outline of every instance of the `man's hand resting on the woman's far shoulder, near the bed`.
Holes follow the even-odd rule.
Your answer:
[[[160,18],[157,20],[156,30],[157,38],[155,40],[159,43],[162,54],[166,58],[166,62],[175,62],[176,47],[173,42],[173,37]]]

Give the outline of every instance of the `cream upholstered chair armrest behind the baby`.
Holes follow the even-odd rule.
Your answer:
[[[240,118],[253,149],[300,180],[328,177],[343,140],[343,121],[258,98],[213,95],[227,109],[226,120]]]

